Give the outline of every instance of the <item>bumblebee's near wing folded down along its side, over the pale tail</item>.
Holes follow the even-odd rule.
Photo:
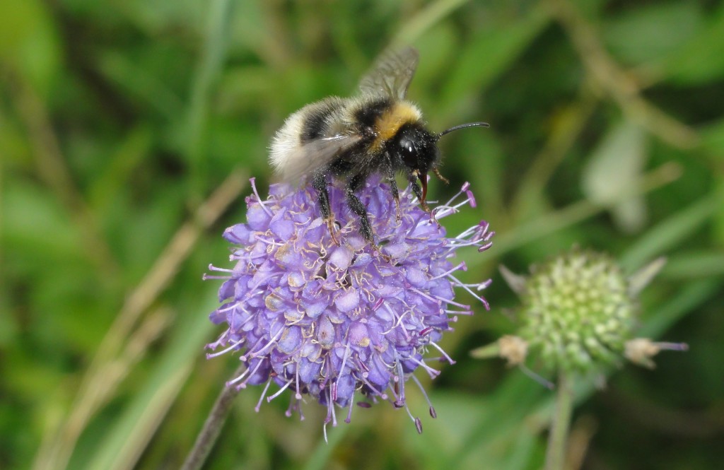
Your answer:
[[[272,151],[272,164],[286,182],[300,182],[361,140],[361,135],[334,135]]]

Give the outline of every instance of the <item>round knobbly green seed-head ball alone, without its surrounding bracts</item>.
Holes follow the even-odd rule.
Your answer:
[[[548,368],[588,372],[617,361],[636,303],[610,257],[574,249],[534,266],[524,281],[515,285],[519,334]]]

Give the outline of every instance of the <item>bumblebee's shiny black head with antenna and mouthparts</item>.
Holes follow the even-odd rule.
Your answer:
[[[392,152],[399,157],[399,161],[408,178],[418,178],[418,180],[420,180],[422,187],[422,200],[420,202],[423,206],[425,205],[425,198],[427,196],[428,172],[434,172],[437,177],[447,182],[437,170],[437,165],[440,160],[437,140],[443,135],[451,133],[453,130],[473,126],[488,127],[488,124],[486,122],[471,122],[450,127],[450,129],[443,130],[442,133],[439,134],[431,133],[419,122],[411,122],[400,127],[392,144]]]

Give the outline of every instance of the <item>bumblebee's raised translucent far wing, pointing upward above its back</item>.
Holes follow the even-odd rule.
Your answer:
[[[404,99],[415,75],[419,54],[407,47],[401,51],[387,51],[360,81],[362,93]]]

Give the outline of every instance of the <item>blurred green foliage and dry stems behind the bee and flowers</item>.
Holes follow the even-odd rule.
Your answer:
[[[0,2],[0,468],[174,469],[236,361],[206,361],[248,177],[270,136],[354,93],[390,43],[418,48],[409,97],[446,137],[445,199],[469,180],[497,231],[463,253],[493,277],[458,360],[321,436],[244,390],[206,469],[537,469],[552,393],[468,352],[515,329],[497,272],[574,244],[629,271],[668,256],[641,335],[689,343],[581,390],[583,469],[713,469],[724,460],[724,4],[720,1]],[[461,294],[466,301],[471,301]],[[535,364],[531,364],[535,366]]]

